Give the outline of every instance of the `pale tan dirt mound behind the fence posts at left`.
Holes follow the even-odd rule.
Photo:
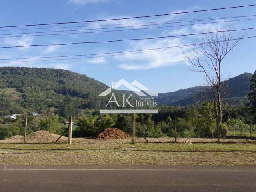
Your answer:
[[[37,131],[27,135],[26,143],[51,143],[52,141],[57,140],[60,135],[53,134],[47,131]],[[67,137],[60,138],[59,141],[66,141]],[[3,143],[23,143],[24,136],[16,135],[10,138],[7,138],[3,141]]]

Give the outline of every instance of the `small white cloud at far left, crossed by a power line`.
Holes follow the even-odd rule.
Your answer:
[[[34,38],[22,37],[22,38],[4,38],[4,43],[9,46],[27,46],[32,45]],[[26,51],[29,47],[19,47],[19,50]]]

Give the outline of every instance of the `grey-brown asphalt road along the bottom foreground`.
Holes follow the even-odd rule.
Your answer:
[[[1,192],[255,192],[256,166],[0,166]]]

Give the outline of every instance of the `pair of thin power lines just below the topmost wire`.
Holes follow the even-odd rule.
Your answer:
[[[140,23],[129,23],[129,24],[112,24],[112,25],[93,25],[93,26],[120,26],[120,27],[108,27],[108,28],[89,28],[80,30],[99,30],[99,29],[114,29],[114,28],[130,28],[138,26],[151,26],[151,25],[164,25],[172,23],[186,23],[186,22],[198,22],[207,20],[217,20],[217,19],[232,19],[232,18],[243,18],[243,17],[254,17],[256,15],[246,15],[246,16],[229,16],[229,17],[215,17],[215,18],[201,18],[201,19],[188,19],[188,20],[168,20],[168,21],[157,21],[157,22],[140,22]],[[150,24],[148,24],[150,23]],[[136,26],[123,26],[131,24],[146,24],[146,25],[136,25]],[[79,27],[93,27],[93,26],[66,26],[66,27],[48,27],[48,28],[29,28],[29,29],[13,29],[13,30],[0,30],[0,31],[17,31],[17,30],[37,30],[37,29],[55,29],[55,28],[79,28]],[[80,30],[58,30],[58,31],[48,31],[48,32],[68,32],[68,31],[80,31]],[[0,35],[15,35],[15,34],[33,34],[33,33],[46,33],[46,32],[26,32],[26,33],[14,33],[14,34],[0,34]]]

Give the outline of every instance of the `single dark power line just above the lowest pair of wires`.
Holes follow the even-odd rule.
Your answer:
[[[150,39],[183,37],[183,36],[218,33],[218,32],[233,32],[233,31],[242,31],[242,30],[252,30],[252,29],[256,29],[256,27],[254,27],[254,28],[244,28],[244,29],[235,29],[235,30],[219,30],[219,31],[213,31],[213,32],[193,33],[193,34],[183,34],[183,35],[173,35],[173,36],[152,37],[152,38],[135,38],[135,39],[121,39],[121,40],[108,40],[108,41],[74,42],[74,43],[62,43],[62,44],[35,44],[35,45],[23,45],[23,46],[6,46],[6,47],[0,47],[0,48],[18,48],[18,47],[32,47],[32,46],[60,46],[60,45],[74,45],[74,44],[110,43],[110,42],[132,41],[132,40],[150,40]]]

